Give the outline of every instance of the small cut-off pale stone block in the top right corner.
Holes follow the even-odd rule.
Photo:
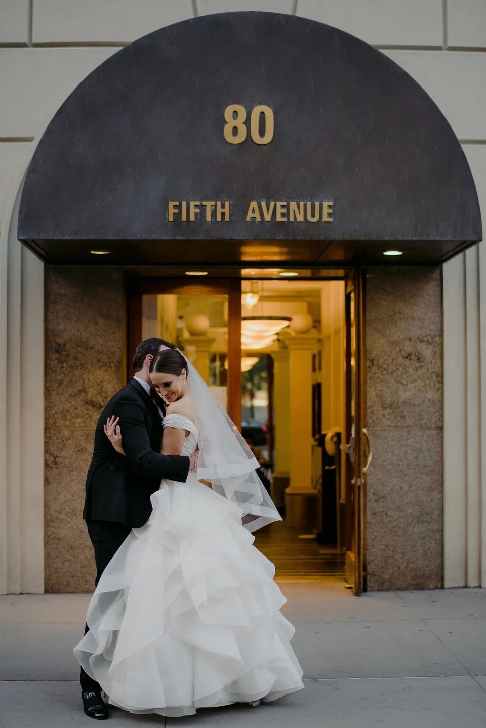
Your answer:
[[[447,0],[447,46],[486,48],[485,0]]]

